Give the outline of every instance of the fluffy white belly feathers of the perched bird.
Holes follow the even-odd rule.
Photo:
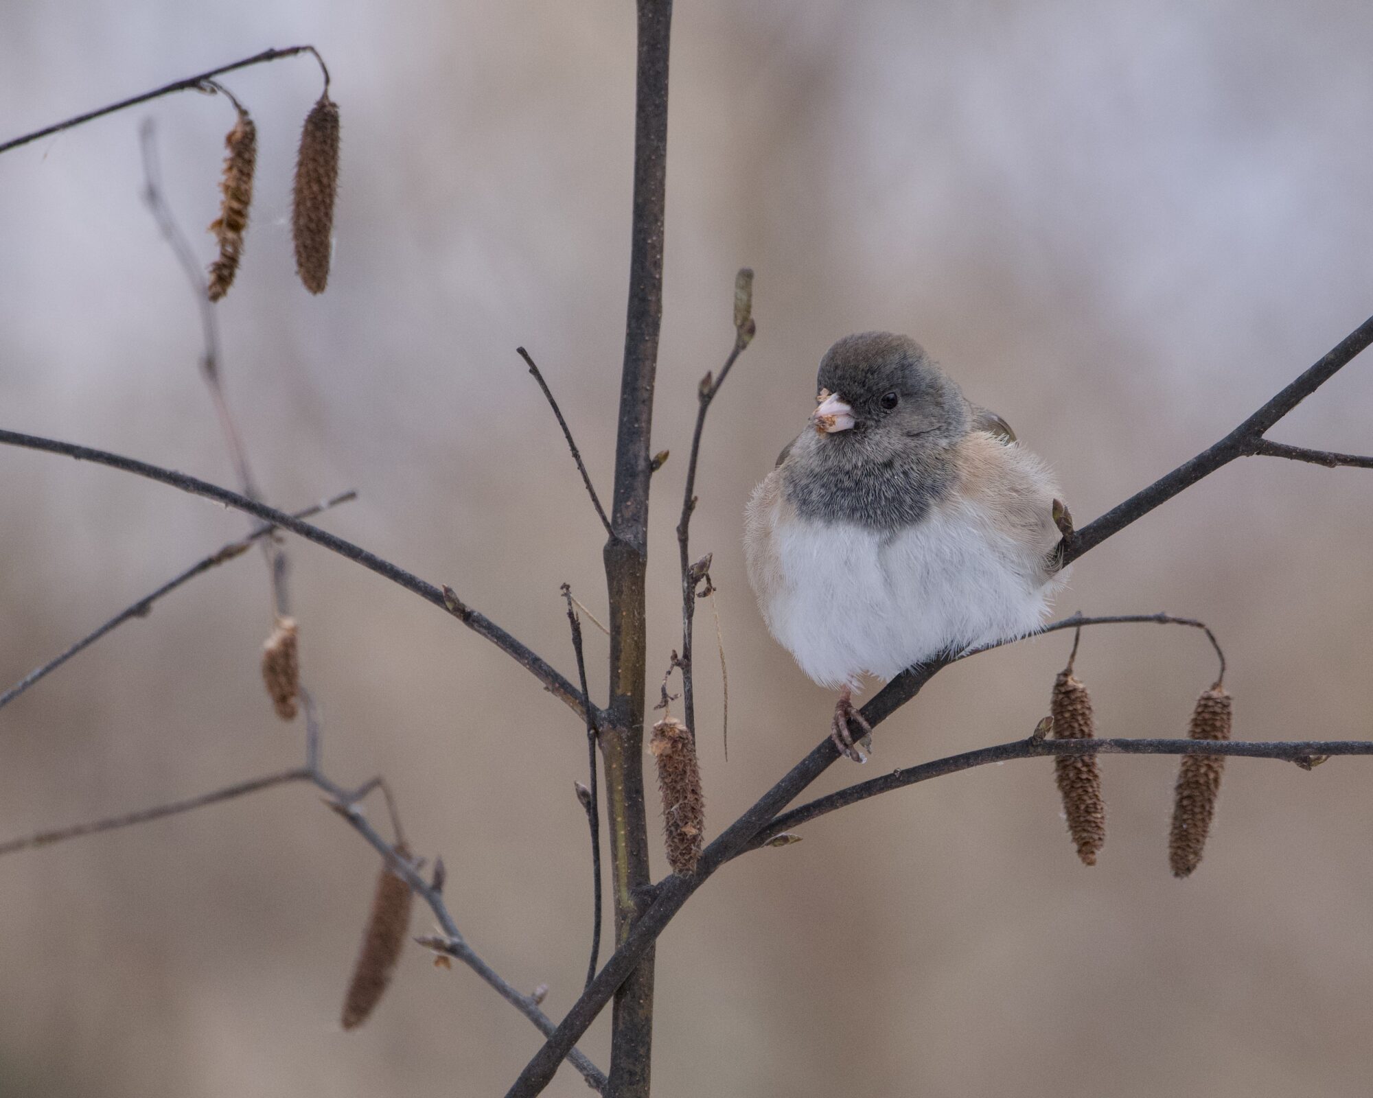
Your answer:
[[[772,498],[765,498],[772,497]],[[881,533],[789,513],[778,494],[750,504],[750,578],[768,629],[824,686],[892,678],[941,652],[1034,631],[1061,575],[997,531],[968,500]]]

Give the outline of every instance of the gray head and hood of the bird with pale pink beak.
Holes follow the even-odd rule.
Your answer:
[[[953,486],[972,427],[962,391],[909,336],[861,332],[820,360],[813,430],[787,450],[787,497],[807,517],[898,528]]]

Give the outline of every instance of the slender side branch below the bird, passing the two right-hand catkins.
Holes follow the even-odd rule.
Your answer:
[[[783,813],[763,828],[748,844],[757,850],[769,839],[791,830],[816,817],[857,804],[861,800],[905,789],[908,785],[971,770],[987,763],[1002,763],[1009,759],[1038,759],[1045,755],[1237,755],[1247,759],[1280,759],[1303,766],[1311,758],[1333,755],[1373,755],[1373,741],[1369,740],[1313,740],[1313,741],[1244,741],[1244,740],[1045,740],[1030,737],[997,744],[947,759],[935,759],[920,766],[892,770],[880,778],[857,782],[828,796],[817,797],[789,813]],[[1310,769],[1304,766],[1303,769]]]

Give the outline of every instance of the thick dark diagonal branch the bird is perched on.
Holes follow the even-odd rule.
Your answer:
[[[1203,450],[1173,472],[1159,478],[1149,487],[1116,505],[1100,519],[1078,530],[1065,546],[1064,563],[1081,557],[1153,508],[1171,500],[1179,491],[1215,472],[1236,457],[1252,453],[1265,431],[1335,376],[1340,368],[1352,361],[1370,342],[1373,342],[1373,317],[1363,321],[1363,324],[1340,340],[1326,355],[1299,375],[1296,380],[1267,401],[1215,446]],[[908,667],[862,707],[864,719],[876,727],[876,725],[920,693],[920,689],[950,662],[951,657],[936,657],[924,664]],[[855,732],[861,732],[861,729],[855,729]],[[1054,740],[1050,743],[1082,741]],[[1212,748],[1215,744],[1207,741],[1207,747]],[[1318,755],[1321,752],[1313,749],[1313,754]],[[838,758],[839,749],[827,737],[806,758],[796,763],[781,781],[763,793],[752,807],[706,847],[695,874],[681,876],[674,873],[654,887],[654,900],[648,906],[648,910],[643,911],[633,926],[630,926],[629,933],[623,935],[618,948],[601,966],[592,985],[582,992],[582,996],[567,1012],[563,1021],[559,1023],[557,1032],[548,1039],[544,1047],[524,1066],[524,1071],[520,1072],[507,1093],[507,1098],[533,1098],[533,1095],[540,1094],[548,1086],[567,1049],[586,1032],[586,1028],[600,1014],[611,996],[616,994],[626,977],[648,955],[658,936],[692,893],[721,865],[743,851],[787,804],[795,800],[803,789],[828,770]]]

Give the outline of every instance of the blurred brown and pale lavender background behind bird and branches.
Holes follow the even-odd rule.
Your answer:
[[[343,111],[328,292],[294,280],[290,176],[309,59],[228,80],[257,199],[221,307],[229,398],[272,498],[356,487],[325,524],[571,671],[557,585],[603,605],[603,534],[526,344],[604,494],[627,259],[633,12],[604,3],[3,7],[0,136],[316,43]],[[1061,474],[1086,522],[1229,431],[1373,307],[1373,8],[1358,0],[680,4],[652,637],[676,644],[670,527],[730,283],[759,335],[707,428],[695,544],[730,656],[713,829],[824,734],[832,699],[766,635],[740,512],[864,328],[917,335]],[[139,200],[140,117],[199,233],[221,100],[161,100],[0,158],[4,425],[229,482],[199,334]],[[1274,435],[1373,449],[1373,362]],[[0,678],[60,651],[240,516],[107,469],[0,453]],[[1237,736],[1373,733],[1373,476],[1233,465],[1093,552],[1060,609],[1205,618]],[[575,719],[450,619],[292,546],[306,673],[339,780],[394,784],[471,942],[549,1013],[589,933]],[[706,609],[708,623],[708,608]],[[258,681],[266,579],[244,557],[0,715],[0,837],[185,796],[299,758]],[[592,634],[595,692],[604,641]],[[942,674],[859,774],[1030,732],[1067,635]],[[1181,734],[1214,666],[1153,626],[1078,662],[1104,734]],[[1107,758],[1083,869],[1048,762],[986,767],[748,855],[662,939],[663,1095],[1363,1095],[1373,1088],[1373,770],[1232,763],[1207,861],[1167,873],[1171,759]],[[652,826],[658,828],[656,818]],[[663,863],[659,859],[659,869]],[[5,1095],[500,1094],[538,1038],[471,973],[408,953],[376,1017],[338,1010],[376,859],[303,788],[0,863]],[[430,918],[417,913],[415,931]],[[607,1060],[599,1024],[585,1046]],[[568,1069],[549,1091],[586,1091]]]

